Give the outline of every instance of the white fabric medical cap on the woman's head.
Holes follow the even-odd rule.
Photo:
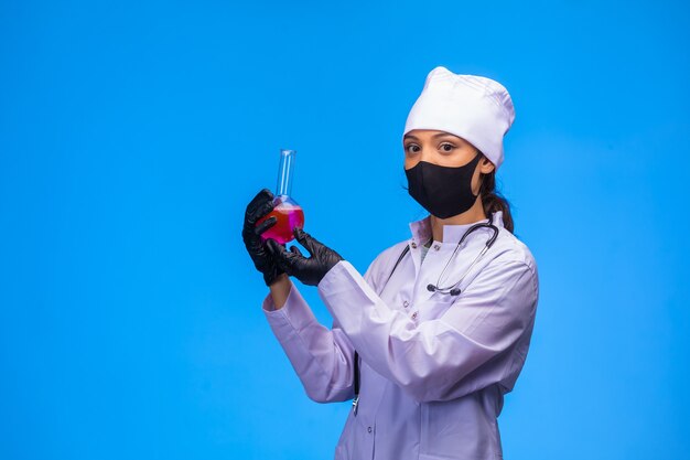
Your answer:
[[[479,149],[498,169],[503,137],[513,120],[513,99],[500,83],[436,67],[427,76],[422,94],[408,115],[403,136],[413,129],[450,132]]]

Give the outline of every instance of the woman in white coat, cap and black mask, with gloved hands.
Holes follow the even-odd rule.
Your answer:
[[[300,229],[310,257],[263,244],[274,221],[256,222],[272,208],[268,190],[247,206],[242,237],[270,288],[262,309],[308,396],[356,403],[336,460],[503,458],[497,418],[539,297],[535,259],[495,190],[514,119],[499,83],[431,71],[402,133],[408,191],[429,215],[364,276]],[[290,276],[317,287],[331,328]]]

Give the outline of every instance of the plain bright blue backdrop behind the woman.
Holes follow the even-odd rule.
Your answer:
[[[688,458],[689,39],[681,1],[1,0],[0,458],[332,458],[349,403],[272,335],[245,206],[297,149],[364,272],[424,215],[400,137],[436,65],[516,106],[541,297],[506,458]]]

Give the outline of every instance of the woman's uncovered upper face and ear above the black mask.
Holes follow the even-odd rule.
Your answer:
[[[461,137],[445,131],[431,129],[413,129],[402,139],[405,150],[405,169],[413,168],[420,161],[440,167],[462,167],[474,159],[478,150]],[[472,176],[472,192],[479,193],[479,173],[487,174],[494,170],[494,163],[483,158]]]

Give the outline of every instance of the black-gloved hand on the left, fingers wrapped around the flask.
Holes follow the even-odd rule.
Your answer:
[[[266,243],[261,238],[261,234],[276,225],[276,217],[267,218],[257,226],[257,221],[273,210],[273,194],[270,190],[263,189],[249,202],[245,212],[245,226],[242,227],[242,239],[249,253],[249,257],[254,261],[257,270],[263,274],[266,286],[270,286],[276,278],[284,271],[278,267],[276,259],[267,250]],[[285,250],[284,245],[280,245],[271,239],[276,246],[280,246]]]

